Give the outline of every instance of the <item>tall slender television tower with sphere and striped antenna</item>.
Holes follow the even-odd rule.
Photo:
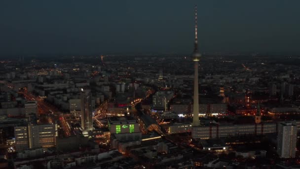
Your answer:
[[[195,42],[192,59],[194,61],[194,103],[193,103],[193,127],[200,126],[199,121],[199,91],[198,91],[198,63],[201,54],[198,52],[198,36],[197,36],[197,5],[195,5]]]

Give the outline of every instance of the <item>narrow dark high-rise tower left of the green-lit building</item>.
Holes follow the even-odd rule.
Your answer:
[[[81,127],[83,129],[83,134],[87,131],[93,130],[93,110],[92,110],[92,94],[90,92],[85,92],[81,88]]]

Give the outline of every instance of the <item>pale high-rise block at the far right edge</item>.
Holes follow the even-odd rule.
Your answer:
[[[292,122],[281,122],[278,126],[277,153],[281,158],[296,155],[297,126]]]

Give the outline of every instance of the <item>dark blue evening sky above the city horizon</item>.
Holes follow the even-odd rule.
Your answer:
[[[0,0],[0,55],[300,52],[300,0]]]

